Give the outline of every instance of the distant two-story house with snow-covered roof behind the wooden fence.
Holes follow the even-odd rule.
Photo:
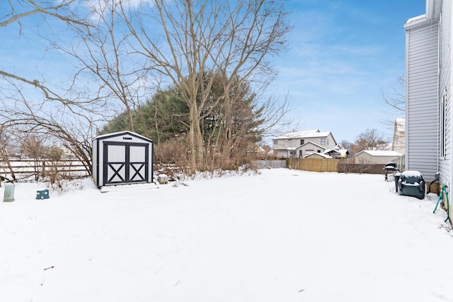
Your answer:
[[[320,132],[319,130],[289,132],[275,137],[272,143],[273,155],[285,158],[305,158],[313,153],[322,154],[338,148],[331,132]]]

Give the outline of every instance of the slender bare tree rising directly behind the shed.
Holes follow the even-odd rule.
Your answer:
[[[80,42],[76,46],[70,45],[71,48],[57,44],[54,47],[79,62],[74,81],[90,79],[91,98],[103,100],[109,111],[125,111],[127,130],[135,131],[134,109],[147,100],[153,82],[149,79],[147,58],[133,52],[130,45],[131,34],[125,30],[119,15],[123,3],[129,1],[87,2],[90,8],[87,18],[96,30],[73,27]],[[116,110],[118,100],[122,107]]]

